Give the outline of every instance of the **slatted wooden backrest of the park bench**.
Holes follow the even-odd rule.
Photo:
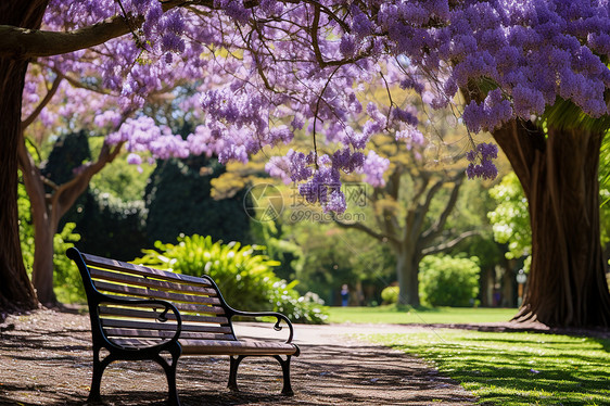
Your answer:
[[[74,259],[74,252],[68,256]],[[182,319],[180,339],[236,340],[226,317],[224,300],[211,278],[174,274],[84,253],[80,253],[80,257],[86,265],[85,272],[80,269],[80,274],[89,299],[92,328],[98,318],[111,342],[125,346],[138,346],[138,342],[162,342],[174,335],[176,317],[168,312],[168,321],[161,322],[157,318],[164,310],[162,306],[154,308],[150,305],[103,301],[97,306],[96,317],[96,310],[91,308],[91,305],[96,305],[91,303],[91,297],[99,296],[96,291],[117,299],[170,302],[178,308]]]

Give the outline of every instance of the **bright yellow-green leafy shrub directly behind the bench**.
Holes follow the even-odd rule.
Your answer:
[[[178,244],[155,243],[155,250],[142,250],[136,264],[154,266],[179,274],[211,276],[230,306],[247,310],[275,310],[296,322],[321,323],[328,315],[323,302],[313,293],[301,296],[294,287],[278,278],[270,261],[256,245],[239,242],[223,244],[202,236],[179,237]]]

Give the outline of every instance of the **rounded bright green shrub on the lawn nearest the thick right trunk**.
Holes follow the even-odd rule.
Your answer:
[[[478,262],[476,257],[423,257],[419,264],[421,302],[432,306],[472,306],[479,293]]]

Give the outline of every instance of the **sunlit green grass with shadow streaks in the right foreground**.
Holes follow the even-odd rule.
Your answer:
[[[366,339],[421,356],[484,404],[610,404],[610,340],[444,329]]]

